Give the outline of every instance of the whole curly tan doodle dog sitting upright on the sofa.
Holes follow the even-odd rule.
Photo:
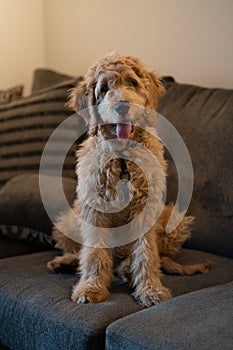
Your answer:
[[[179,274],[209,269],[208,261],[182,266],[168,257],[190,236],[193,218],[166,233],[173,206],[163,206],[167,164],[155,129],[164,92],[154,72],[120,53],[101,58],[71,91],[68,105],[84,110],[89,132],[77,152],[77,199],[53,231],[64,255],[48,267],[80,274],[74,302],[104,301],[118,273],[148,307],[171,297],[161,268]]]

